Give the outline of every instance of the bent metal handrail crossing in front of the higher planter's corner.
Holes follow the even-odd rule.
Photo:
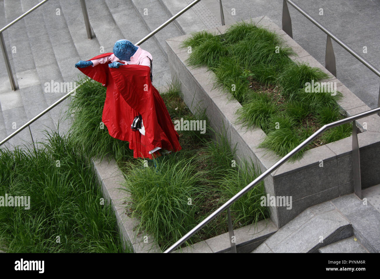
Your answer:
[[[281,158],[279,161],[277,161],[273,166],[271,166],[268,170],[266,170],[264,173],[262,173],[260,176],[258,176],[255,180],[253,180],[251,183],[249,183],[247,186],[245,186],[241,191],[239,191],[236,195],[234,195],[226,203],[224,203],[222,206],[220,206],[217,210],[215,210],[212,214],[210,214],[206,219],[204,219],[202,222],[200,222],[198,225],[196,225],[196,227],[194,227],[194,229],[190,230],[188,233],[186,233],[184,236],[182,236],[176,243],[174,243],[172,246],[170,246],[168,249],[166,249],[164,251],[164,253],[170,253],[170,252],[173,252],[174,249],[177,249],[182,243],[184,243],[186,240],[188,240],[191,236],[193,236],[200,229],[202,229],[210,221],[215,219],[224,210],[230,208],[232,203],[236,202],[236,200],[238,200],[242,195],[244,195],[246,192],[248,192],[250,189],[252,189],[257,183],[259,183],[264,178],[266,178],[274,170],[278,169],[282,164],[284,164],[294,154],[296,154],[299,150],[304,148],[307,144],[309,144],[313,139],[318,137],[325,130],[333,128],[335,126],[345,124],[345,123],[350,123],[351,121],[353,121],[353,130],[355,130],[355,134],[356,134],[355,120],[366,117],[368,115],[375,114],[377,112],[380,112],[380,107],[378,107],[376,109],[368,110],[366,112],[358,113],[358,114],[353,115],[351,117],[347,117],[347,118],[344,118],[344,119],[341,119],[338,121],[334,121],[334,122],[326,124],[326,125],[323,125],[318,131],[316,131],[310,137],[308,137],[306,140],[304,140],[302,143],[300,143],[296,148],[294,148],[292,151],[290,151],[288,154],[286,154],[283,158]]]

